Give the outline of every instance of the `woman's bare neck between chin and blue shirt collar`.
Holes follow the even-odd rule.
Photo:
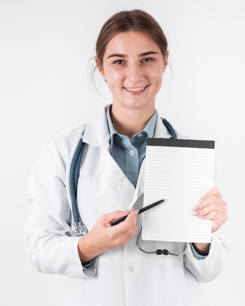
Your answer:
[[[155,112],[150,109],[119,109],[112,104],[111,121],[115,131],[131,138],[134,134],[142,131]]]

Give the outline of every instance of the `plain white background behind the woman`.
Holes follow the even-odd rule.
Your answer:
[[[26,182],[49,138],[110,102],[90,85],[89,58],[102,24],[131,8],[151,13],[169,41],[157,108],[181,133],[216,141],[231,250],[203,288],[212,306],[245,305],[245,1],[120,2],[0,0],[0,305],[62,305],[67,278],[39,273],[27,259]]]

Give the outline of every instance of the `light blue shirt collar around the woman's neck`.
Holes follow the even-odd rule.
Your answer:
[[[109,128],[109,132],[110,132],[110,135],[111,135],[111,147],[113,146],[113,136],[115,134],[118,134],[117,131],[115,131],[114,127],[113,127],[113,124],[112,124],[112,121],[111,121],[111,115],[110,115],[110,110],[111,110],[111,105],[109,105],[109,107],[107,108],[107,111],[106,111],[106,117],[107,117],[107,123],[108,123],[108,128]],[[154,135],[154,131],[155,131],[155,126],[156,126],[156,118],[157,118],[157,114],[156,114],[156,110],[153,114],[153,116],[151,117],[151,119],[148,121],[147,125],[145,126],[145,128],[141,131],[141,132],[138,132],[136,133],[135,135],[137,134],[140,134],[142,133],[143,131],[145,131],[147,133],[147,136],[149,138],[152,138],[153,135]],[[135,136],[133,135],[133,136]],[[133,137],[132,136],[132,137]]]

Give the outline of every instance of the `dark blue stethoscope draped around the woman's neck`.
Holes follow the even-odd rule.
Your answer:
[[[177,139],[176,132],[174,128],[172,127],[172,125],[166,119],[162,119],[162,122],[167,128],[167,130],[169,131],[169,133],[171,134],[172,138]],[[81,138],[79,139],[77,148],[72,158],[72,162],[70,166],[70,176],[69,176],[71,208],[72,208],[72,215],[73,215],[73,220],[74,220],[74,223],[73,223],[74,230],[72,230],[71,232],[71,236],[73,237],[84,237],[89,232],[87,229],[87,226],[84,224],[84,222],[82,221],[80,217],[79,210],[78,210],[78,204],[77,204],[77,185],[78,185],[78,178],[79,178],[79,172],[80,172],[80,164],[81,164],[81,160],[82,160],[85,145],[86,145],[86,143],[83,142],[83,135],[84,135],[84,131],[81,135]],[[141,234],[141,230],[142,230],[142,222],[141,222],[141,225],[138,231],[136,243],[140,251],[144,253],[149,253],[149,254],[155,253],[156,255],[163,254],[163,255],[181,256],[181,255],[184,255],[187,250],[187,243],[186,243],[185,250],[181,254],[170,253],[168,250],[156,250],[152,252],[145,251],[139,246],[139,242],[138,242],[139,236]]]

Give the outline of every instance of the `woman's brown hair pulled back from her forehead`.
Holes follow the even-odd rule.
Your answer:
[[[163,58],[166,58],[168,43],[160,25],[150,14],[134,9],[114,14],[102,26],[95,49],[98,66],[103,65],[105,49],[111,38],[118,33],[128,31],[146,33],[159,46]]]

